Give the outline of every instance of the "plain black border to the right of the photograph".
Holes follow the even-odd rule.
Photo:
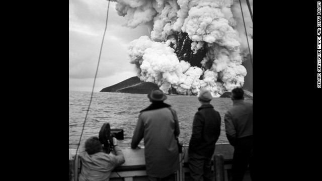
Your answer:
[[[254,9],[256,176],[313,180],[312,160],[319,155],[313,130],[321,108],[316,82],[317,3],[256,1]]]

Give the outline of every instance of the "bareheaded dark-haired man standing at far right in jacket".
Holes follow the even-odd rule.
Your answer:
[[[224,120],[227,139],[234,147],[232,180],[241,181],[244,178],[248,164],[250,164],[251,168],[253,152],[253,104],[244,102],[243,89],[237,87],[232,89],[231,93],[233,106],[225,114]]]

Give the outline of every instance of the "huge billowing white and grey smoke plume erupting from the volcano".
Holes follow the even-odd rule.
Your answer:
[[[239,1],[116,2],[128,27],[151,26],[150,38],[141,36],[128,48],[142,81],[166,94],[198,95],[204,87],[215,97],[243,86],[247,71],[241,63],[250,52]],[[252,52],[253,23],[246,1],[242,7]]]

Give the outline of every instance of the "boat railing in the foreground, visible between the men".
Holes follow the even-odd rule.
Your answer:
[[[125,162],[112,171],[110,180],[146,180],[144,147],[142,147],[141,149],[121,148],[121,150],[123,152]],[[223,177],[225,178],[225,180],[228,180],[228,170],[231,169],[233,150],[234,148],[229,143],[216,144],[215,147],[214,155],[220,154],[223,156]],[[70,164],[70,168],[72,170],[70,173],[72,174],[72,180],[76,181],[78,174],[81,172],[81,159],[79,159],[78,153],[75,156],[76,149],[69,149],[69,152],[71,153],[72,157],[70,163],[74,163],[74,159],[76,159],[75,164]],[[184,146],[183,153],[181,153],[179,156],[181,164],[180,169],[176,173],[176,180],[184,181],[186,180],[186,177],[190,176],[190,169],[188,165],[188,146]],[[214,166],[215,165],[212,162],[213,171],[215,170]]]

